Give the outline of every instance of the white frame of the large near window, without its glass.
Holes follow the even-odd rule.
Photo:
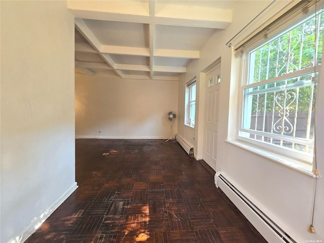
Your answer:
[[[303,21],[303,19],[307,19],[307,18],[301,18],[299,23]],[[277,38],[278,36],[280,36],[281,33],[285,32],[284,30],[282,30],[281,32],[279,32],[278,34],[275,35],[274,38]],[[263,44],[262,44],[263,45]],[[254,48],[254,50],[258,49],[259,47],[262,46],[261,44],[257,45],[257,47]],[[324,50],[324,49],[323,49]],[[251,51],[252,52],[252,51]],[[279,146],[275,146],[266,142],[262,142],[256,139],[251,139],[248,138],[244,135],[245,132],[249,132],[248,130],[245,130],[244,128],[242,128],[243,126],[243,117],[244,117],[244,99],[245,99],[245,90],[251,87],[257,87],[263,84],[269,84],[269,83],[273,83],[276,82],[278,80],[284,80],[284,79],[288,79],[291,77],[296,77],[299,75],[303,75],[306,73],[314,73],[314,72],[318,72],[318,76],[320,75],[319,70],[320,70],[320,65],[317,65],[315,67],[310,67],[310,68],[306,68],[306,69],[302,69],[302,70],[298,70],[294,73],[288,73],[288,74],[284,74],[285,76],[278,76],[275,78],[270,78],[270,79],[266,79],[264,81],[261,81],[259,83],[254,83],[254,84],[249,84],[249,55],[250,52],[246,52],[244,54],[242,54],[241,56],[241,63],[242,63],[242,82],[240,85],[240,105],[239,105],[239,124],[238,124],[238,134],[237,134],[237,140],[238,141],[244,141],[244,142],[248,142],[252,145],[256,145],[257,146],[257,150],[261,149],[263,150],[263,153],[265,151],[272,151],[274,152],[274,154],[278,153],[287,157],[290,157],[294,160],[298,160],[298,161],[302,161],[302,163],[306,163],[308,165],[312,165],[312,160],[313,160],[313,154],[311,153],[305,153],[305,152],[299,152],[295,149],[287,149],[285,147],[279,147]],[[322,55],[322,61],[323,61],[323,55]],[[296,139],[296,142],[300,141],[300,139]],[[314,141],[311,142],[310,145],[313,145]],[[269,155],[269,156],[273,156],[273,154]]]

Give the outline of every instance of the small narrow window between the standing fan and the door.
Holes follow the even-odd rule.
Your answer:
[[[194,128],[196,113],[196,78],[194,77],[186,84],[186,102],[185,102],[185,120],[184,124]]]

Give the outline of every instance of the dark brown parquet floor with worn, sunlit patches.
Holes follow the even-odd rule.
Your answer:
[[[26,243],[266,242],[177,142],[75,145],[78,188]]]

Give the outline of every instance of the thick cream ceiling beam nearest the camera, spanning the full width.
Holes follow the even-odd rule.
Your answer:
[[[204,8],[172,4],[169,1],[67,1],[76,18],[225,29],[232,12],[217,7]]]

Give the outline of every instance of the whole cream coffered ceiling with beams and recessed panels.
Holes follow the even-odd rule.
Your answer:
[[[68,1],[80,75],[179,80],[217,29],[231,1]]]

